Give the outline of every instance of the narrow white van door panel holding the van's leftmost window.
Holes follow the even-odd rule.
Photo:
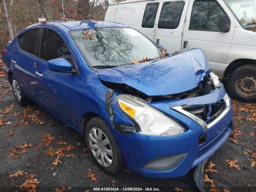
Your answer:
[[[156,16],[158,13],[159,2],[147,3],[142,24],[140,28],[140,32],[150,38],[152,41],[156,42]]]

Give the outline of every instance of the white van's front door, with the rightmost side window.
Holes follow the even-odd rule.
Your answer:
[[[201,48],[214,72],[225,62],[235,21],[222,1],[190,0],[183,32],[184,48]]]

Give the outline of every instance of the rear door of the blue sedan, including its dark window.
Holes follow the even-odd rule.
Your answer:
[[[34,63],[36,62],[35,50],[39,29],[29,30],[17,38],[17,46],[12,53],[12,69],[21,89],[28,96],[35,99]]]

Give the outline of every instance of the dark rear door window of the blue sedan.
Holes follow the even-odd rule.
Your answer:
[[[20,36],[19,40],[19,45],[22,47],[20,47],[20,49],[22,49],[23,51],[26,51],[32,55],[35,54],[35,49],[36,49],[36,38],[38,35],[38,31],[39,29],[33,29],[30,31],[25,32],[25,36],[22,37]]]

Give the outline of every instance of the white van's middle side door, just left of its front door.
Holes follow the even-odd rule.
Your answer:
[[[170,54],[181,50],[187,8],[188,1],[166,1],[160,5],[156,24],[156,43],[164,46]]]

